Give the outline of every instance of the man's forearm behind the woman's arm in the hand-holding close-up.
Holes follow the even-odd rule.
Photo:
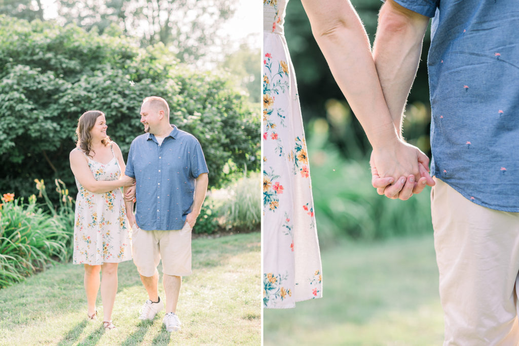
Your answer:
[[[429,18],[392,0],[382,6],[373,46],[373,59],[391,118],[402,136],[407,96],[418,69]]]

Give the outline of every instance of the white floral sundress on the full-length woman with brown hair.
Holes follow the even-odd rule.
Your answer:
[[[114,154],[113,149],[112,154]],[[87,158],[95,180],[119,179],[121,170],[115,154],[106,164],[91,160],[88,156]],[[76,185],[78,193],[73,263],[101,265],[132,259],[131,228],[128,227],[121,190],[92,193],[77,179]]]

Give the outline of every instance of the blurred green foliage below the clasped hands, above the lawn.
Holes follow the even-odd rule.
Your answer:
[[[389,199],[372,187],[367,158],[346,160],[327,142],[327,132],[313,131],[308,148],[321,243],[432,232],[429,188],[406,201]]]

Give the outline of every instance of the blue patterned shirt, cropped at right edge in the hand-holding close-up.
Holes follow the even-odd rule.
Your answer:
[[[519,212],[519,7],[395,0],[427,17],[431,174],[481,206]]]

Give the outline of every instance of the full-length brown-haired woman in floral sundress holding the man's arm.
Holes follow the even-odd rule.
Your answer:
[[[102,112],[85,112],[76,129],[77,147],[70,153],[78,190],[73,263],[85,267],[89,320],[97,319],[95,300],[101,286],[103,326],[113,329],[117,265],[132,259],[131,228],[119,188],[131,186],[135,180],[121,175],[125,162],[117,144],[106,135],[106,128]]]

